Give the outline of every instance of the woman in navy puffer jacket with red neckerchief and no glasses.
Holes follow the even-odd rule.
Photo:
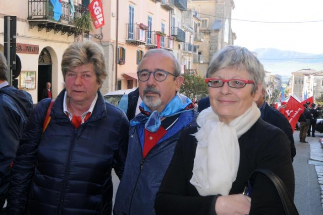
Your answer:
[[[76,42],[62,57],[66,88],[43,121],[51,99],[28,118],[12,168],[7,214],[111,214],[112,168],[122,177],[129,122],[104,102],[104,51]]]

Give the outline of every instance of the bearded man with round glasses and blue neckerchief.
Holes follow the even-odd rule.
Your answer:
[[[138,65],[140,112],[130,123],[125,170],[114,214],[155,214],[154,201],[181,131],[196,125],[190,99],[179,95],[184,78],[175,56],[151,49]]]

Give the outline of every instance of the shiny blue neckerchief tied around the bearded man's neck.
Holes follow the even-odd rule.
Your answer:
[[[190,99],[183,95],[176,95],[164,108],[161,113],[156,110],[151,112],[148,107],[141,102],[139,109],[142,114],[136,116],[132,121],[130,121],[131,126],[136,124],[145,124],[145,128],[150,132],[156,132],[160,125],[161,119],[169,116],[174,116],[176,114],[182,113],[184,111],[189,111],[193,109],[193,103]]]

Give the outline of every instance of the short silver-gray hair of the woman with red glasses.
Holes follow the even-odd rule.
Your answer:
[[[263,65],[247,48],[230,45],[218,51],[213,55],[207,68],[206,78],[227,67],[245,68],[248,71],[249,79],[254,81],[251,93],[257,90],[258,84],[263,83],[265,76]]]

